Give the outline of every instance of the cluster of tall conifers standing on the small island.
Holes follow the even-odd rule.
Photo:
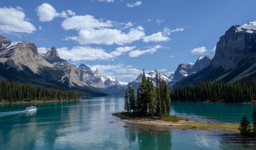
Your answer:
[[[160,79],[156,74],[156,87],[150,78],[146,78],[144,69],[142,74],[142,82],[137,89],[132,88],[131,83],[128,84],[124,95],[124,110],[133,112],[138,116],[158,116],[159,118],[169,116],[171,112],[170,89],[164,80]]]

